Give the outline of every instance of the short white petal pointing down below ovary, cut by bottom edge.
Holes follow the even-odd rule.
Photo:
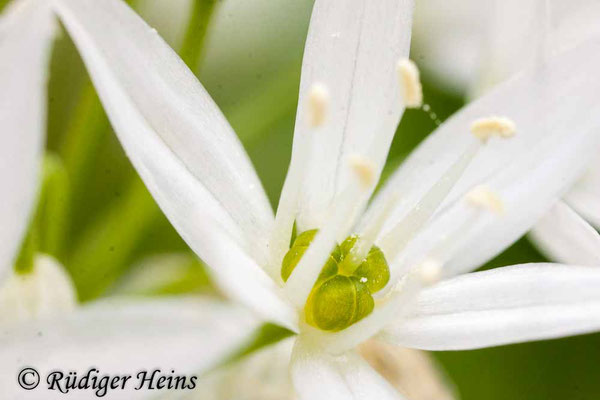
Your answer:
[[[402,396],[355,352],[332,356],[301,339],[292,352],[299,400],[391,400]]]

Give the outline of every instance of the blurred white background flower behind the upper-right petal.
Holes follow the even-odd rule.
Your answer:
[[[600,33],[600,4],[590,0],[432,0],[419,3],[416,15],[419,58],[443,84],[472,97]],[[600,229],[597,157],[530,237],[553,260],[600,265],[600,235],[594,227]]]

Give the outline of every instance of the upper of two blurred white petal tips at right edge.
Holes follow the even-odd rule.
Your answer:
[[[600,159],[567,193],[565,201],[596,229],[600,229]]]

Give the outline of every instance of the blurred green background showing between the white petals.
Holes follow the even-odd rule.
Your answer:
[[[197,72],[275,207],[291,154],[311,1],[138,0],[133,6]],[[206,38],[204,29],[189,29],[190,18],[208,27]],[[464,93],[433,82],[423,77],[425,99],[444,120],[464,104]],[[214,291],[124,155],[64,31],[52,56],[48,101],[48,150],[62,157],[70,179],[64,240],[52,252],[71,273],[80,300],[115,291]],[[427,114],[407,111],[386,175],[434,129]],[[523,238],[486,268],[541,260]],[[144,275],[155,278],[150,291],[140,283]],[[464,400],[600,399],[600,334],[435,357]]]

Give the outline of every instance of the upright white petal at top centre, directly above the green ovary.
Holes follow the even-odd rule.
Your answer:
[[[366,156],[375,163],[377,175],[385,162],[404,111],[396,65],[408,56],[412,10],[412,0],[315,3],[289,182],[281,200],[293,203],[286,212],[299,212],[302,230],[318,227],[335,208],[348,179],[341,168],[346,155]],[[321,125],[311,127],[309,98],[315,84],[327,89],[329,105]],[[308,159],[300,154],[306,151]]]

